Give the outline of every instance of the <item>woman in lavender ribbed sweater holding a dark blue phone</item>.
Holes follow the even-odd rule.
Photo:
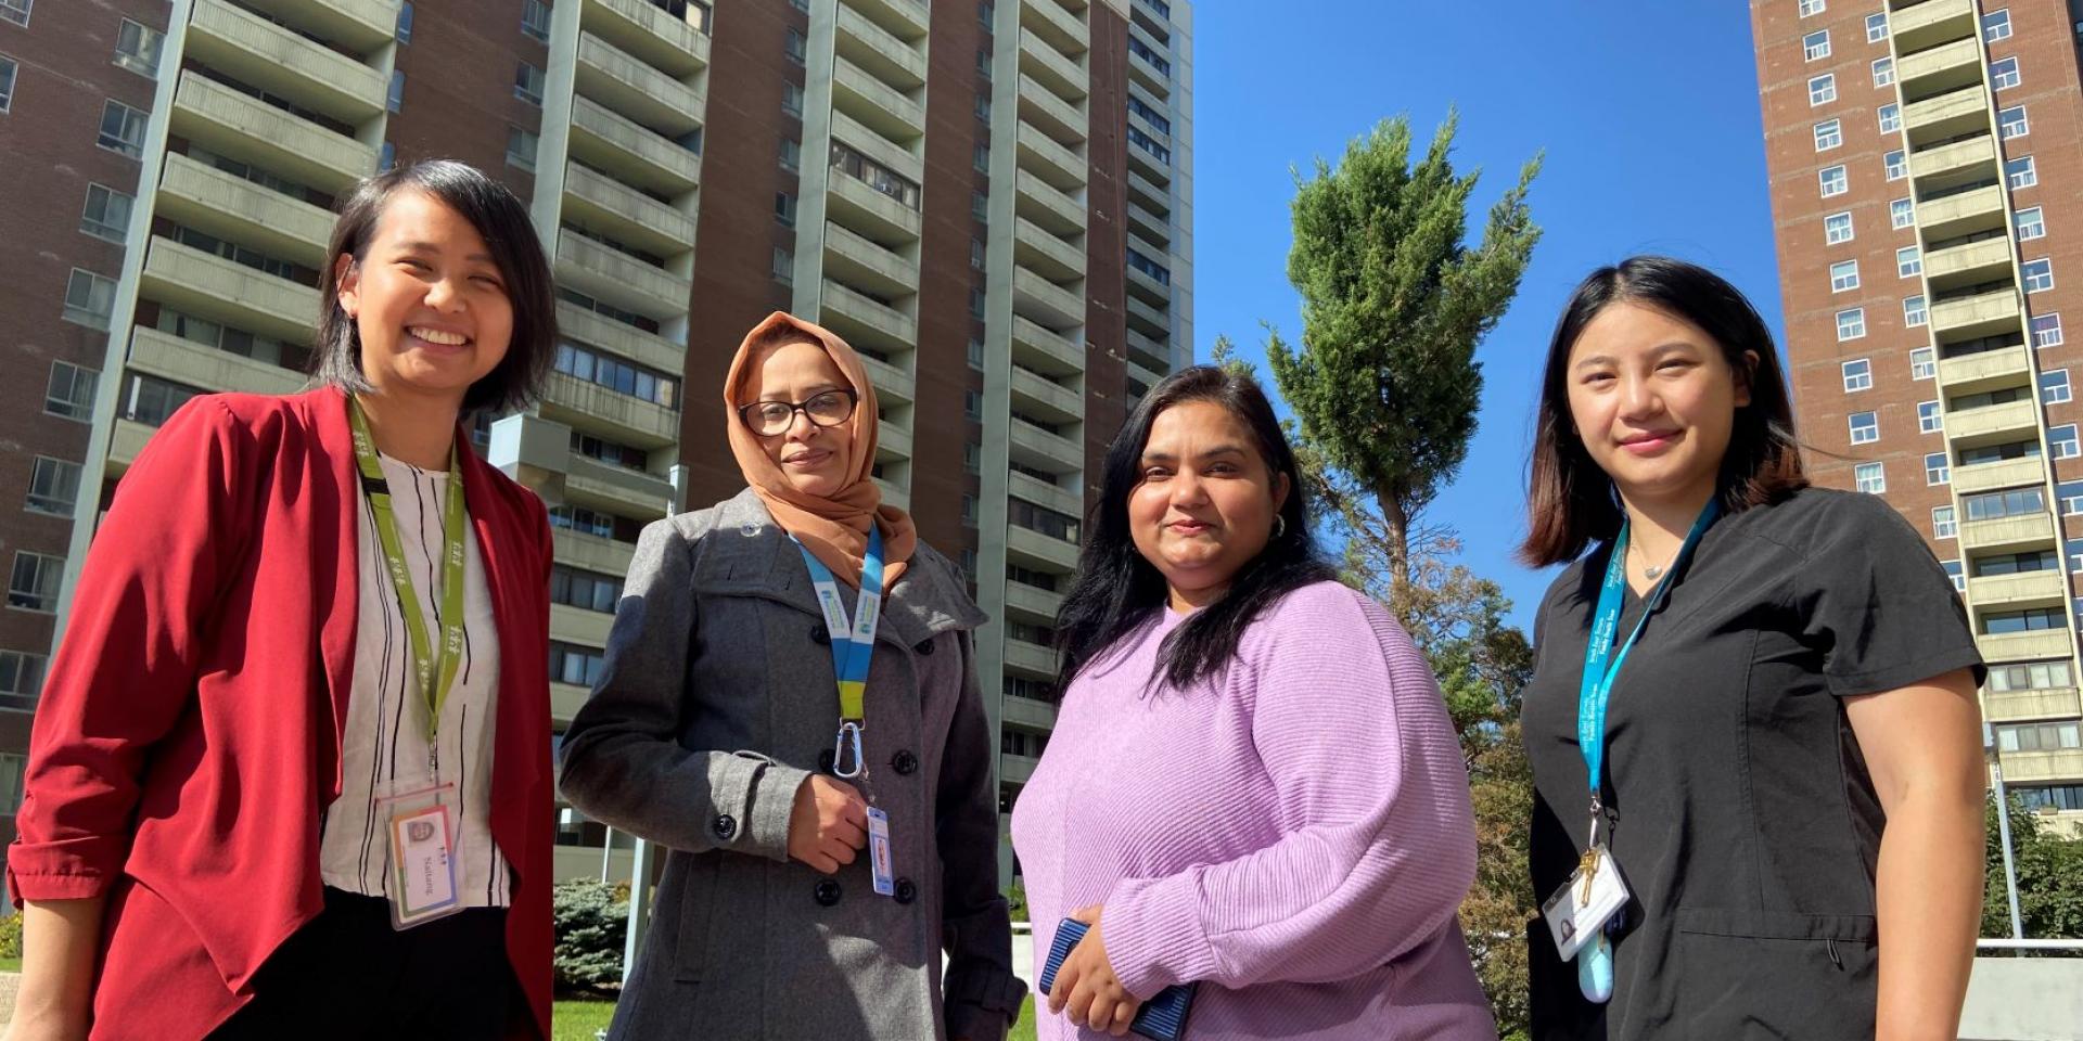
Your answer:
[[[1494,1039],[1454,910],[1460,745],[1396,620],[1316,560],[1248,377],[1158,383],[1106,452],[1056,623],[1062,708],[1012,810],[1035,922],[1089,924],[1044,1039],[1127,1033],[1198,983],[1187,1037]]]

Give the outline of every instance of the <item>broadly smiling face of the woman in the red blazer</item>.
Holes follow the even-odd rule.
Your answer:
[[[512,344],[512,300],[483,235],[425,192],[392,194],[362,260],[342,256],[333,277],[362,377],[383,393],[460,404]]]

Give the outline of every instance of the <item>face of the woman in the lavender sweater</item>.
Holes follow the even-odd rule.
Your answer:
[[[1175,404],[1150,425],[1129,531],[1135,552],[1187,600],[1227,589],[1287,502],[1287,477],[1273,475],[1256,443],[1216,402]]]

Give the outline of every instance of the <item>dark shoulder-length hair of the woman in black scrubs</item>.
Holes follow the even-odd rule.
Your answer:
[[[1621,533],[1618,489],[1577,439],[1568,410],[1568,352],[1583,327],[1610,304],[1646,304],[1698,325],[1721,346],[1735,379],[1750,389],[1750,404],[1735,410],[1729,450],[1721,458],[1721,506],[1729,512],[1779,502],[1808,487],[1793,404],[1779,371],[1773,331],[1758,308],[1727,279],[1700,264],[1668,256],[1631,256],[1602,266],[1571,294],[1541,375],[1539,427],[1527,479],[1527,541],[1519,558],[1531,566],[1575,560],[1593,539]],[[1743,354],[1756,354],[1750,364]]]

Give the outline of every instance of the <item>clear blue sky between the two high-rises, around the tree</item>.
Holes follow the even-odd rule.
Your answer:
[[[1266,12],[1277,12],[1266,17]],[[1335,162],[1379,119],[1431,139],[1460,108],[1456,169],[1481,167],[1471,233],[1546,150],[1529,204],[1544,235],[1512,310],[1477,352],[1481,427],[1433,506],[1462,562],[1531,627],[1552,581],[1512,562],[1541,352],[1571,287],[1637,252],[1702,262],[1781,333],[1750,6],[1739,0],[1202,0],[1194,10],[1194,333],[1264,371],[1260,321],[1302,333],[1287,283],[1289,167]]]

